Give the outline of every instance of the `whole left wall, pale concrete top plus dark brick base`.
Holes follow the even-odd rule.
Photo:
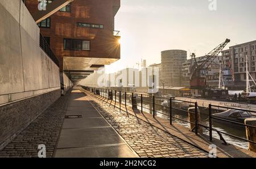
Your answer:
[[[0,0],[0,149],[60,97],[59,67],[21,0]]]

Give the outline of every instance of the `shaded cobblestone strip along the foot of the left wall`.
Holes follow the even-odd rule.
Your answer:
[[[26,129],[0,151],[0,157],[38,157],[38,145],[46,145],[46,157],[52,157],[65,116],[68,95],[61,96]]]

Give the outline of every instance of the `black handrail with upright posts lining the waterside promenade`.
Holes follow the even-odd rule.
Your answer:
[[[84,87],[83,87],[83,88],[84,88]],[[88,91],[93,91],[94,94],[96,94],[96,95],[100,95],[100,94],[97,94],[97,92],[95,93],[95,91],[100,90],[100,88],[90,88],[90,87],[85,87],[85,88],[86,88],[86,90],[88,90]],[[116,90],[113,90],[113,91],[115,91],[115,94],[117,94],[117,91],[116,91]],[[119,102],[119,100],[121,100],[121,102],[122,102],[123,99],[120,97],[120,96],[122,95],[122,91],[118,91],[118,92],[119,92],[119,94],[118,94],[118,95],[119,95],[118,102]],[[169,106],[167,106],[167,105],[162,105],[162,104],[155,103],[155,98],[162,98],[162,97],[158,97],[158,96],[154,96],[154,95],[146,95],[146,96],[150,96],[150,99],[152,99],[152,102],[148,102],[147,100],[143,100],[143,96],[145,96],[145,95],[143,95],[143,94],[139,94],[139,93],[137,93],[137,92],[124,92],[124,93],[125,93],[125,107],[127,106],[127,104],[126,104],[126,102],[127,102],[127,101],[126,101],[126,100],[127,100],[127,95],[130,94],[130,96],[131,96],[131,105],[132,105],[132,108],[133,108],[133,109],[134,109],[134,106],[136,106],[136,108],[137,108],[137,106],[141,107],[141,111],[143,111],[143,108],[144,108],[144,109],[148,109],[149,111],[152,111],[152,112],[153,112],[152,115],[153,115],[154,118],[155,118],[156,113],[160,113],[160,114],[162,114],[162,115],[168,116],[168,117],[170,117],[170,125],[172,125],[172,119],[178,119],[178,120],[181,120],[181,121],[184,121],[184,122],[188,122],[188,123],[190,123],[190,124],[194,124],[195,127],[192,129],[192,131],[195,130],[195,133],[196,133],[196,134],[197,134],[197,132],[198,132],[198,126],[203,126],[205,129],[209,130],[209,140],[210,140],[210,141],[212,141],[212,132],[214,131],[214,132],[217,132],[217,134],[220,136],[220,140],[222,140],[225,145],[228,145],[228,143],[224,140],[224,138],[222,137],[222,134],[226,134],[226,135],[228,135],[228,136],[230,136],[230,137],[238,138],[238,139],[243,140],[243,141],[247,141],[247,142],[251,142],[251,143],[256,143],[256,142],[250,141],[250,140],[248,140],[248,139],[245,139],[245,138],[242,138],[242,137],[238,137],[238,136],[234,136],[233,134],[229,134],[229,133],[224,133],[224,132],[221,132],[220,130],[217,130],[217,129],[213,128],[213,126],[212,126],[212,119],[221,120],[221,121],[226,121],[226,122],[231,122],[231,123],[233,123],[233,124],[238,124],[238,125],[247,126],[247,127],[251,127],[251,128],[256,128],[256,126],[247,125],[247,124],[242,124],[242,123],[240,123],[240,122],[230,121],[230,120],[226,120],[226,119],[221,119],[220,117],[216,117],[216,116],[212,115],[212,107],[216,107],[216,108],[226,108],[226,109],[236,109],[236,110],[239,110],[239,111],[247,111],[247,112],[255,112],[255,113],[256,113],[256,111],[250,111],[250,110],[247,110],[247,109],[230,108],[230,107],[224,107],[224,106],[220,106],[220,105],[211,105],[211,104],[209,104],[209,107],[208,107],[208,109],[209,109],[209,115],[208,115],[208,117],[209,117],[209,118],[208,118],[208,119],[209,119],[209,126],[205,126],[205,125],[203,125],[203,124],[200,124],[200,122],[199,122],[199,112],[197,111],[197,107],[198,107],[197,102],[189,102],[189,101],[178,100],[178,99],[172,99],[172,98],[163,98],[163,99],[170,100],[170,101],[169,101],[169,102],[170,102],[170,103],[169,103]],[[113,94],[113,92],[112,92],[112,94]],[[135,96],[136,94],[139,95],[139,99],[136,98],[136,96]],[[106,96],[103,96],[103,97],[106,98]],[[135,97],[135,98],[134,98],[134,97]],[[120,99],[120,98],[121,98],[121,99]],[[114,99],[113,96],[112,96],[112,99]],[[147,99],[148,99],[148,98],[147,98]],[[134,102],[134,100],[135,100],[135,101],[138,101],[138,103],[137,103],[137,102]],[[185,103],[189,103],[189,105],[195,104],[195,112],[185,111],[184,109],[180,109],[180,108],[174,107],[174,106],[172,105],[172,101],[174,101],[174,100],[176,100],[176,101],[181,101],[181,102],[185,102]],[[107,102],[108,102],[108,101],[107,101]],[[117,102],[117,96],[115,96],[115,103],[116,103],[116,102]],[[119,109],[121,109],[121,102],[119,102]],[[144,103],[150,103],[150,104],[152,104],[152,109],[147,108],[147,107],[144,107],[144,106],[143,106],[143,102],[144,102]],[[140,104],[141,104],[141,105],[140,105]],[[163,108],[164,108],[164,107],[169,108],[170,115],[167,115],[166,113],[163,113],[163,112],[156,111],[156,110],[155,110],[155,105],[161,106],[161,107],[163,107]],[[117,106],[115,106],[115,107],[117,107]],[[118,107],[117,107],[117,108],[118,108]],[[172,109],[177,110],[177,111],[181,111],[181,112],[187,112],[187,113],[192,113],[192,114],[194,114],[194,115],[195,115],[195,122],[187,121],[187,120],[184,120],[184,119],[180,119],[179,117],[174,117],[174,116],[172,116]]]

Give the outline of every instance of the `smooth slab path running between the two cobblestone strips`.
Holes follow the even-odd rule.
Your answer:
[[[138,157],[87,99],[73,88],[55,157]]]

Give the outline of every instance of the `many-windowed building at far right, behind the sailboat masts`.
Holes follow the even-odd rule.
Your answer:
[[[255,58],[256,40],[234,45],[222,51],[222,65],[226,86],[236,86],[245,89],[246,86],[246,56],[248,70],[253,79],[256,79]]]

